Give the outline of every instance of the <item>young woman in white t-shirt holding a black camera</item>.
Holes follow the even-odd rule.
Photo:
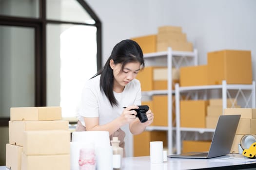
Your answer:
[[[153,122],[154,114],[146,112],[148,120],[136,117],[141,105],[141,88],[136,78],[144,68],[141,48],[133,40],[122,40],[112,50],[105,66],[84,86],[79,108],[77,131],[108,131],[110,139],[118,136],[124,148],[125,133],[120,129],[129,124],[133,135],[142,133]],[[126,107],[125,109],[123,107]]]

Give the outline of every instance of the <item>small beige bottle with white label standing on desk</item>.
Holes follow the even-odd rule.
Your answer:
[[[113,164],[114,165],[120,165],[113,167],[114,170],[120,170],[122,166],[122,157],[123,157],[123,148],[119,146],[120,140],[118,140],[118,137],[113,137],[113,139],[110,141],[113,149],[113,155],[120,155],[120,156],[114,156],[113,157]],[[115,159],[116,158],[116,159]],[[117,163],[115,161],[118,161],[120,163]]]

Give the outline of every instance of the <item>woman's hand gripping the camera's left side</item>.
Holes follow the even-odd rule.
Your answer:
[[[129,124],[130,122],[136,119],[137,112],[131,109],[138,109],[138,106],[136,105],[128,106],[123,110],[121,116],[119,117],[122,125]]]

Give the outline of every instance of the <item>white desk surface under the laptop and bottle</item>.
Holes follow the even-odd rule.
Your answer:
[[[244,158],[241,154],[229,154],[211,159],[185,159],[168,158],[167,162],[161,164],[151,164],[149,156],[126,157],[123,159],[122,170],[241,170],[256,169],[256,159],[249,159],[253,162],[230,162],[215,161],[221,158]],[[8,170],[5,166],[0,166],[0,170]]]

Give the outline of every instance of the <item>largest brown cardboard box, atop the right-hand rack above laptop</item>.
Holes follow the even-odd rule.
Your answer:
[[[223,50],[208,52],[208,84],[252,84],[251,51]]]

